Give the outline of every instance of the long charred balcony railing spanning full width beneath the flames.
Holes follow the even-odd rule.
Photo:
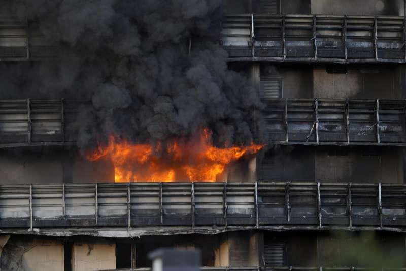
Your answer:
[[[103,183],[1,185],[1,228],[406,226],[406,185]]]

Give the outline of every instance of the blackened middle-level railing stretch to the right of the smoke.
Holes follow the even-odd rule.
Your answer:
[[[265,118],[276,144],[405,145],[406,101],[269,100]]]

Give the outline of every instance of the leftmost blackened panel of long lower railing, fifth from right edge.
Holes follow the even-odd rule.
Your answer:
[[[286,183],[258,183],[259,225],[282,225],[289,221],[288,186]]]

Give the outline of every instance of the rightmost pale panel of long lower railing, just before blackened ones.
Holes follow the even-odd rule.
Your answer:
[[[227,183],[227,225],[255,225],[255,184]]]

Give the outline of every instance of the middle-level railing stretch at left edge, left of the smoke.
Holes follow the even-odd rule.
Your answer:
[[[0,100],[0,147],[75,144],[79,105],[64,99]]]

